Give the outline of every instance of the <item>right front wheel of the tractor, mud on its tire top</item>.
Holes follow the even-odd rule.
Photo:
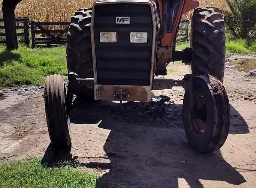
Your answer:
[[[190,111],[189,94],[183,101],[183,123],[191,147],[211,153],[225,143],[230,126],[230,106],[222,83],[210,75],[193,78],[195,107]]]

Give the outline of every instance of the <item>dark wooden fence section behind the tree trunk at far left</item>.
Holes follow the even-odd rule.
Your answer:
[[[3,18],[0,18],[0,37],[5,37],[5,30],[3,24]],[[29,19],[28,18],[15,18],[17,36],[23,36],[23,39],[19,42],[23,42],[29,46]],[[0,40],[0,44],[6,43],[5,40]]]

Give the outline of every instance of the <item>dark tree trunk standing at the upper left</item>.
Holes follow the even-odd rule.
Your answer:
[[[14,10],[21,1],[22,0],[3,0],[2,10],[7,50],[13,50],[19,47]]]

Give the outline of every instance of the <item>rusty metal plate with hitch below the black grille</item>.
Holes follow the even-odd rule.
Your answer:
[[[151,86],[95,84],[94,99],[148,102],[151,99]]]

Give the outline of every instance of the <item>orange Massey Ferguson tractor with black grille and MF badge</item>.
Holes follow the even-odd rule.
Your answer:
[[[152,90],[183,87],[183,123],[190,146],[201,153],[221,148],[230,126],[222,85],[225,24],[222,10],[197,8],[194,0],[97,0],[71,17],[67,33],[68,87],[60,75],[45,80],[47,126],[53,147],[71,148],[69,114],[73,95],[89,100],[151,100]],[[175,50],[182,15],[193,10],[190,46]],[[190,73],[167,75],[170,62]]]

